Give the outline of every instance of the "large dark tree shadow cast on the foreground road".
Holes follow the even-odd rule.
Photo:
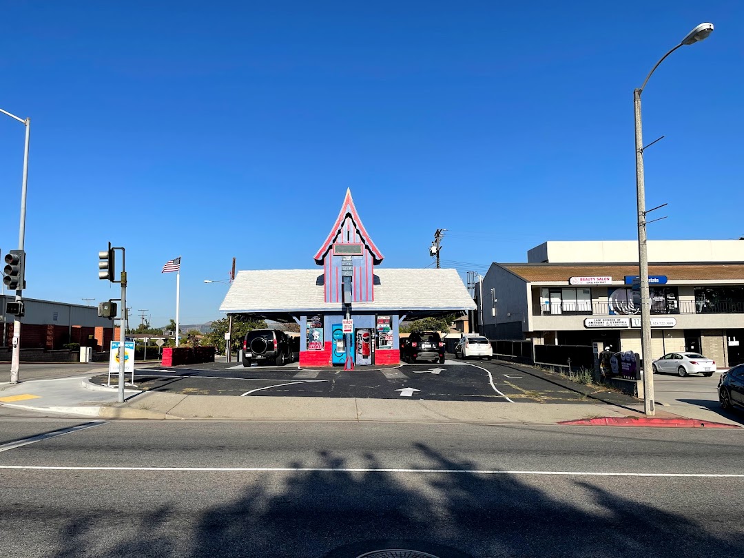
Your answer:
[[[411,452],[425,455],[434,469],[475,469],[423,444]],[[374,455],[365,459],[365,468],[382,468]],[[318,452],[313,463],[288,466],[348,464]],[[735,506],[728,515],[719,510],[717,522],[702,525],[705,510],[693,507],[685,515],[662,510],[626,479],[312,471],[217,473],[213,484],[199,485],[181,476],[192,474],[174,476],[167,493],[143,487],[144,510],[136,514],[92,504],[86,516],[66,520],[48,556],[337,558],[343,554],[334,549],[373,539],[408,541],[408,548],[419,545],[420,550],[443,545],[485,558],[740,557],[744,548]],[[670,490],[684,490],[686,481],[669,482]],[[551,484],[557,496],[543,490]],[[623,487],[632,499],[618,495]],[[184,494],[178,490],[194,490],[196,498],[179,500]],[[97,524],[117,523],[126,523],[135,536],[122,542],[96,535]],[[364,554],[356,548],[347,556]]]

